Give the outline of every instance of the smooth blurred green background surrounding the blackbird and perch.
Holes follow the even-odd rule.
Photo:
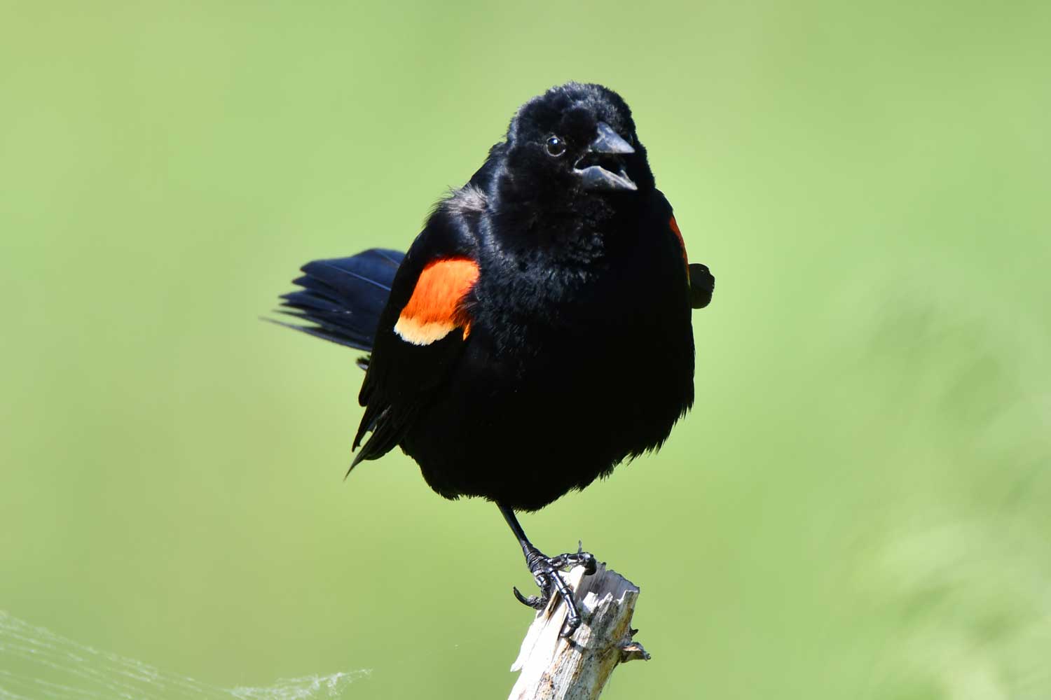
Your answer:
[[[0,609],[219,686],[503,697],[499,513],[400,454],[344,483],[354,354],[259,317],[573,79],[719,280],[664,449],[523,518],[642,587],[607,697],[1051,697],[1048,3],[0,17]]]

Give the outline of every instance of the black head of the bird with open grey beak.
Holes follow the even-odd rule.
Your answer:
[[[654,187],[632,110],[595,84],[566,83],[522,105],[506,163],[510,187],[528,198],[617,199]]]

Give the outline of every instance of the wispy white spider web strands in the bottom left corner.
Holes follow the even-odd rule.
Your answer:
[[[0,700],[341,698],[368,670],[223,688],[65,639],[0,611]]]

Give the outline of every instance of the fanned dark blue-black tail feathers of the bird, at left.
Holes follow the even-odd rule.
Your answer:
[[[373,248],[352,257],[314,260],[293,280],[303,289],[282,295],[279,313],[306,321],[274,321],[341,345],[371,352],[379,314],[405,253]]]

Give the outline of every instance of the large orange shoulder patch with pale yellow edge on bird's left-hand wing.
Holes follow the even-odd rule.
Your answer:
[[[462,302],[477,279],[478,263],[470,258],[428,262],[394,324],[394,333],[413,345],[430,345],[458,327],[463,328],[467,338],[471,319]]]

